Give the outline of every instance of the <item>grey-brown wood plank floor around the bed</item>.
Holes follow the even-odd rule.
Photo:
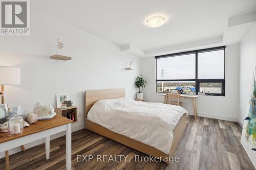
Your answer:
[[[175,156],[180,161],[167,165],[164,162],[135,161],[135,155],[147,156],[131,148],[88,130],[72,133],[73,169],[254,169],[240,141],[242,128],[238,123],[193,116]],[[44,144],[10,156],[12,169],[65,169],[65,137],[50,142],[50,160],[45,159]],[[90,162],[77,162],[77,155],[93,155]],[[96,161],[96,155],[125,155],[118,162]],[[81,160],[81,159],[80,159]],[[0,159],[0,169],[5,159]]]

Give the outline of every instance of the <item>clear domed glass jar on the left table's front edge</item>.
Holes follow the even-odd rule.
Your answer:
[[[24,120],[22,117],[15,115],[12,118],[10,118],[8,122],[8,134],[9,135],[15,135],[19,133],[23,133],[23,125]]]

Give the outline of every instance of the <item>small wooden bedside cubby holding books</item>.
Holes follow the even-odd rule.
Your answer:
[[[66,109],[56,108],[56,113],[63,117],[73,120],[73,123],[77,122],[77,107],[69,106]],[[73,116],[72,116],[73,115]]]

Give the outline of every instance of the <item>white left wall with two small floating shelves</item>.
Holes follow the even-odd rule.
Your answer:
[[[65,44],[60,54],[72,60],[50,59],[56,54],[57,38]],[[125,70],[131,61],[135,61],[136,70]],[[126,96],[135,98],[134,80],[141,73],[140,62],[109,41],[33,10],[30,36],[0,37],[0,65],[21,69],[21,84],[5,87],[5,102],[33,111],[36,102],[56,107],[55,94],[69,92],[81,113],[78,123],[73,124],[75,130],[84,127],[84,90],[125,88]]]

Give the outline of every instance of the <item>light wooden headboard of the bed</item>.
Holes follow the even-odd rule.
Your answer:
[[[105,90],[86,90],[86,93],[84,95],[85,95],[85,108],[86,108],[86,115],[87,115],[89,110],[93,106],[93,104],[99,100],[125,98],[125,89],[114,88],[114,89],[105,89]]]

